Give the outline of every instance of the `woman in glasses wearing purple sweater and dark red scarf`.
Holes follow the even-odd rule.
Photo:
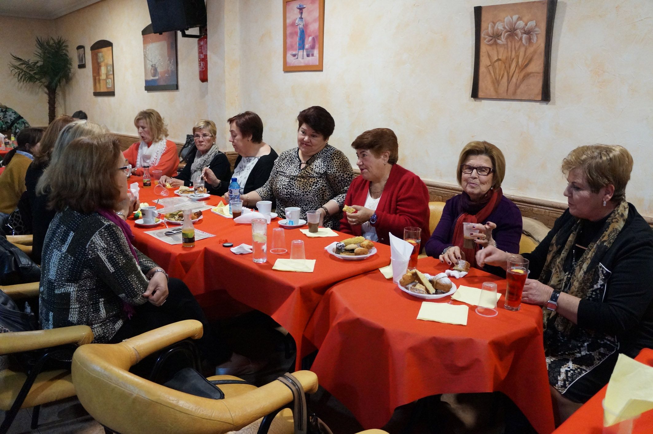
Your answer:
[[[517,205],[503,195],[504,175],[503,152],[492,143],[471,141],[462,149],[456,174],[462,193],[445,204],[438,226],[426,242],[426,254],[439,257],[449,265],[464,259],[471,267],[481,268],[476,265],[475,253],[485,246],[519,253],[522,214]],[[472,248],[464,246],[462,224],[465,222],[479,229],[471,235]],[[486,265],[482,269],[505,275],[501,267]]]

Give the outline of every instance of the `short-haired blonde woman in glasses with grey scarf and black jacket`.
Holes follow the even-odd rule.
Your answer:
[[[215,128],[214,121],[202,119],[193,126],[193,139],[195,140],[195,149],[197,151],[189,152],[188,162],[182,171],[176,177],[162,176],[159,184],[169,183],[173,187],[185,185],[191,186],[193,181],[202,178],[204,169],[208,167],[214,173],[214,178],[207,181],[206,192],[209,194],[223,195],[229,188],[231,171],[229,170],[229,160],[224,152],[217,149],[215,145]]]

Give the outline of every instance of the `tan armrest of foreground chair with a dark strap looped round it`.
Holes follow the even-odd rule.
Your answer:
[[[317,392],[317,375],[314,372],[296,371],[293,372],[293,376],[302,384],[304,392],[309,394]],[[281,381],[275,380],[244,394],[223,399],[221,402],[229,409],[234,426],[244,427],[253,420],[293,402],[293,392]]]

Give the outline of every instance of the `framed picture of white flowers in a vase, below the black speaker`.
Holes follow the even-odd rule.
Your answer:
[[[146,91],[176,91],[177,80],[177,32],[161,35],[152,33],[152,25],[141,32],[143,35],[143,65]]]

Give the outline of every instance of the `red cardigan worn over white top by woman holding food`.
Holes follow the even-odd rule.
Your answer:
[[[351,182],[345,205],[365,206],[365,199],[370,189],[370,182],[362,176]],[[377,222],[374,225],[379,242],[390,244],[388,233],[404,239],[404,227],[417,226],[422,228],[422,240],[430,237],[428,231],[428,189],[426,184],[415,173],[395,164],[390,169],[390,176],[385,184],[381,200],[376,207]],[[340,220],[340,231],[358,236],[362,234],[360,225],[350,225],[347,214],[343,213]],[[423,245],[423,243],[422,243]]]

